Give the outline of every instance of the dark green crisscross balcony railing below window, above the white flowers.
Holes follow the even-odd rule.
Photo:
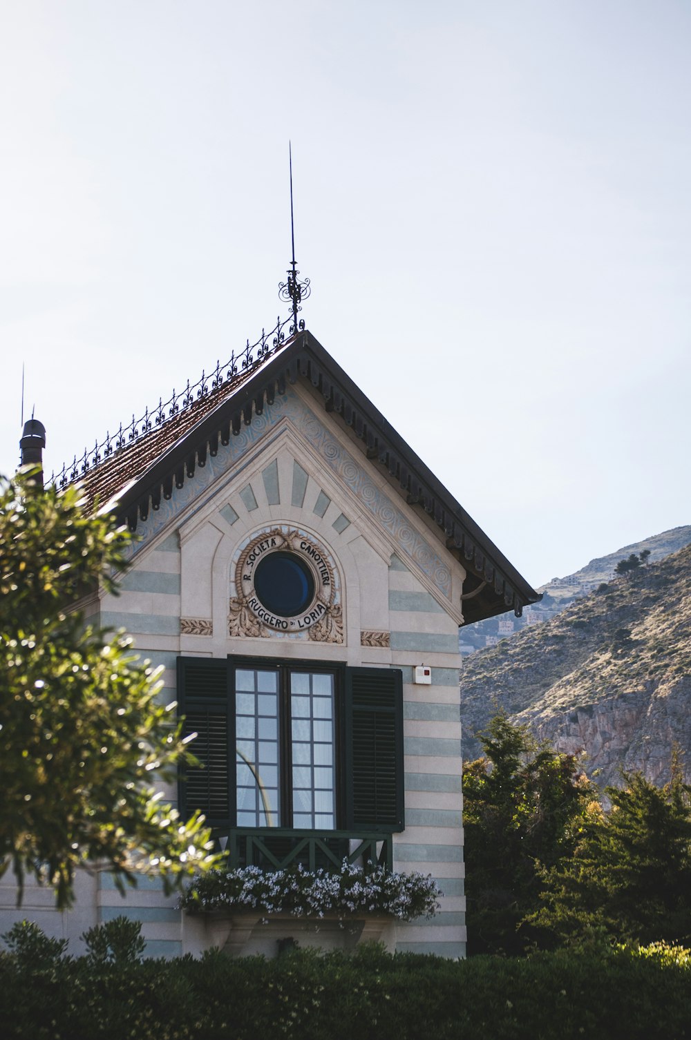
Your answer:
[[[260,866],[265,870],[279,870],[301,864],[307,870],[322,867],[338,873],[343,860],[393,868],[390,833],[235,827],[228,833],[226,851],[231,869]]]

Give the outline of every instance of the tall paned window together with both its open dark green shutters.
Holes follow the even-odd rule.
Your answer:
[[[224,827],[404,828],[400,671],[178,658],[179,709],[200,762],[183,813]]]

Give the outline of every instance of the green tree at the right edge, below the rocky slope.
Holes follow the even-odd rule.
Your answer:
[[[691,788],[679,768],[656,787],[640,773],[608,787],[612,808],[591,818],[574,855],[542,875],[541,908],[529,920],[545,944],[691,941]]]

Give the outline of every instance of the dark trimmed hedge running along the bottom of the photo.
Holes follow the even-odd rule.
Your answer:
[[[365,945],[230,960],[0,954],[2,1036],[31,1040],[691,1038],[691,968],[668,952],[447,961]]]

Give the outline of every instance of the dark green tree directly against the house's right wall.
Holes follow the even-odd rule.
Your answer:
[[[595,797],[573,755],[495,716],[485,754],[463,770],[468,953],[518,954],[518,922],[538,906],[539,863],[570,854]]]

